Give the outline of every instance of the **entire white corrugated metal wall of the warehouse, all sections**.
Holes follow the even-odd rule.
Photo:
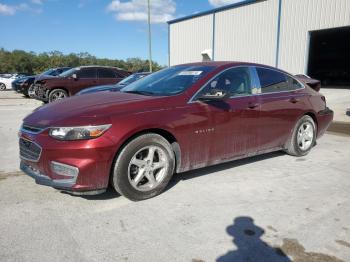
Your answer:
[[[215,60],[275,66],[280,0],[215,13]],[[281,0],[278,67],[306,73],[309,31],[350,26],[350,0]],[[213,14],[170,24],[170,65],[202,60],[213,45]]]

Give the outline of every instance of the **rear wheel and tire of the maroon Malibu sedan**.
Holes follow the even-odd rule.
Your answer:
[[[292,136],[286,145],[286,152],[292,156],[305,156],[316,143],[316,124],[305,115],[296,123]]]

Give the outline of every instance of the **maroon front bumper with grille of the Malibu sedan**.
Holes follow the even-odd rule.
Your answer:
[[[21,143],[26,140],[27,142]],[[40,148],[40,152],[38,152]],[[37,184],[73,194],[98,194],[109,184],[115,144],[108,137],[58,141],[48,130],[20,132],[20,169]]]

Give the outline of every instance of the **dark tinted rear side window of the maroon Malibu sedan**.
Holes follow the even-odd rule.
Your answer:
[[[256,68],[256,71],[262,93],[292,91],[302,87],[298,81],[282,72],[260,67]]]

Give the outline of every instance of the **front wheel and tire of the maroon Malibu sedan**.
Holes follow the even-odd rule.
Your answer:
[[[175,155],[169,142],[157,134],[144,134],[121,150],[114,163],[111,182],[126,198],[144,200],[165,189],[174,168]]]

